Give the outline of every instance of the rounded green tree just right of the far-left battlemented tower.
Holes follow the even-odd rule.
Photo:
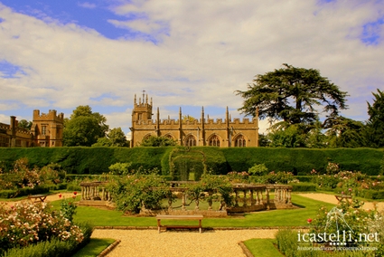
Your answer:
[[[73,110],[70,119],[64,122],[63,144],[67,147],[90,147],[104,138],[108,131],[107,119],[87,106]]]

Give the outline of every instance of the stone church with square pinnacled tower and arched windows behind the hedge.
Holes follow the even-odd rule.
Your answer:
[[[160,120],[157,108],[156,119],[152,119],[152,99],[143,94],[143,100],[134,100],[132,111],[131,148],[140,146],[143,138],[151,136],[173,138],[180,146],[258,147],[258,114],[256,118],[231,119],[229,111],[225,119],[205,119],[201,109],[201,119],[183,120],[182,109],[179,119]]]

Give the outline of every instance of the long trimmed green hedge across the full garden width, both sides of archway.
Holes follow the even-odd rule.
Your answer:
[[[0,167],[10,169],[14,161],[27,157],[30,165],[44,167],[61,165],[70,174],[102,174],[117,162],[130,162],[132,168],[158,168],[169,176],[169,155],[174,148],[0,148]],[[295,175],[310,175],[312,169],[325,173],[328,162],[337,163],[342,170],[361,171],[379,175],[384,149],[377,148],[192,148],[204,152],[213,174],[248,171],[264,163],[269,171],[290,171]],[[186,162],[193,162],[186,158]],[[200,161],[199,161],[200,162]]]

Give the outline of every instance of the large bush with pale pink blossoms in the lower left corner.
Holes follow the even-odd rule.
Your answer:
[[[84,235],[79,226],[52,211],[46,203],[25,201],[10,207],[0,206],[1,252],[53,238],[81,243]]]

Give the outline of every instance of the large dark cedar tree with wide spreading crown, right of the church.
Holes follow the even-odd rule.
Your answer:
[[[236,91],[244,99],[239,108],[242,113],[255,116],[258,109],[259,118],[268,118],[271,123],[284,120],[290,124],[313,124],[318,119],[318,105],[323,105],[329,116],[337,116],[340,109],[347,108],[347,93],[322,77],[320,71],[286,63],[283,66],[257,75],[248,90]]]

